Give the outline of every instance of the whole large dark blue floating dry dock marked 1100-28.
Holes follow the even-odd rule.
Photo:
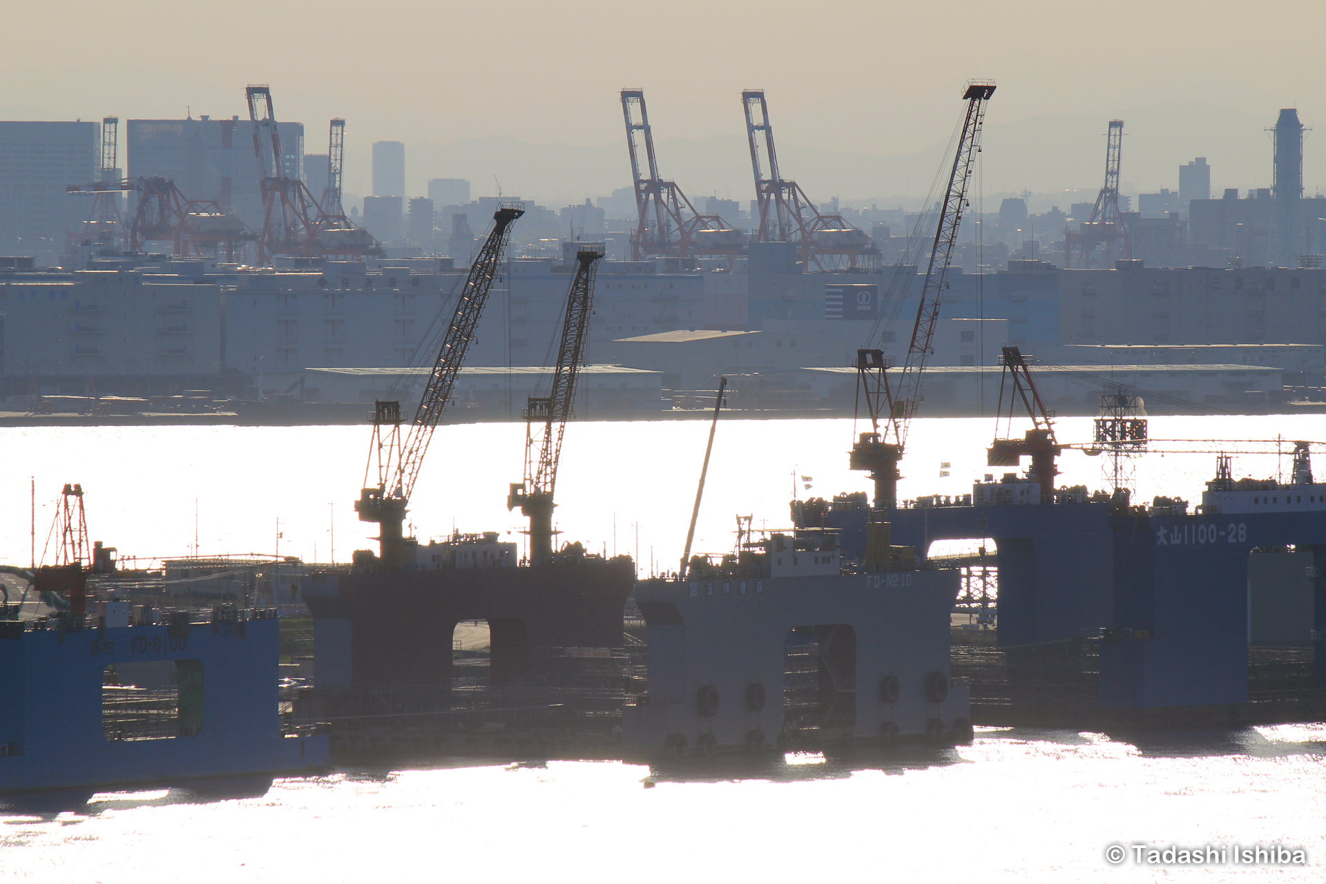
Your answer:
[[[1224,461],[1197,512],[1073,493],[993,504],[979,486],[973,500],[985,502],[931,500],[891,516],[894,535],[919,549],[994,539],[998,651],[960,655],[971,664],[960,669],[972,680],[979,724],[1317,720],[1326,685],[1326,484],[1311,481],[1306,452],[1294,474],[1286,484],[1235,481]],[[863,549],[863,501],[843,496],[802,518]],[[1297,636],[1298,649],[1254,644],[1265,626],[1252,620],[1254,599],[1296,594],[1302,604],[1266,618]]]

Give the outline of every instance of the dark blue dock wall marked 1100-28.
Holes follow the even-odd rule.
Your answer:
[[[865,510],[829,513],[826,524],[843,530],[849,555],[859,554]],[[1158,514],[1085,502],[918,506],[892,513],[892,535],[919,550],[939,539],[993,538],[1001,648],[1098,640],[1098,692],[1090,701],[1099,709],[1207,708],[1211,721],[1237,720],[1231,706],[1249,701],[1249,555],[1254,549],[1310,550],[1315,607],[1303,632],[1311,628],[1315,688],[1303,696],[1319,706],[1326,687],[1326,512]],[[979,712],[975,720],[1018,721],[1014,714],[996,722]]]

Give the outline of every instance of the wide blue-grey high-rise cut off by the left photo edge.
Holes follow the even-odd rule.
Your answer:
[[[48,245],[64,249],[65,229],[88,220],[91,209],[90,199],[70,196],[65,186],[97,179],[99,147],[97,123],[0,122],[0,237],[7,253],[48,262],[54,257]]]

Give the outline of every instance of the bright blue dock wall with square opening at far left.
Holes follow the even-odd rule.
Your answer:
[[[276,618],[69,632],[21,626],[0,624],[0,793],[328,766],[325,736],[281,733]],[[107,667],[163,661],[180,673],[178,732],[109,737]]]

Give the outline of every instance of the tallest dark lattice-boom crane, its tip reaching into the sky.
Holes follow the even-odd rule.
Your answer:
[[[940,205],[935,243],[926,268],[926,285],[922,288],[916,322],[912,325],[911,343],[907,347],[907,362],[898,372],[896,380],[890,383],[886,372],[891,366],[882,350],[857,351],[858,390],[865,394],[871,431],[861,433],[853,444],[850,467],[871,473],[875,481],[875,509],[879,510],[891,510],[898,501],[898,461],[907,445],[911,419],[920,407],[922,372],[932,350],[940,297],[948,288],[948,268],[953,260],[953,245],[963,221],[963,209],[967,208],[967,186],[971,182],[972,164],[981,151],[985,103],[993,94],[994,83],[988,81],[969,81],[963,93],[963,101],[967,102],[963,131],[957,151],[953,154],[948,190],[944,191]],[[880,419],[886,421],[883,432],[880,432]]]

